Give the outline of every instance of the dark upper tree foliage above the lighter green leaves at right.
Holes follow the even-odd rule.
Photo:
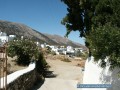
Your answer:
[[[78,30],[81,37],[86,37],[92,27],[99,27],[108,22],[120,27],[119,0],[61,0],[67,5],[68,13],[61,23],[71,31]]]

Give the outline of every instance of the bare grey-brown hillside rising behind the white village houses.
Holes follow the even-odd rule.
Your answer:
[[[43,34],[24,24],[14,23],[0,20],[0,31],[6,32],[8,35],[16,35],[17,37],[24,36],[40,43],[47,43],[50,45],[71,45],[73,47],[84,47],[81,44],[75,43],[67,38],[59,35]]]

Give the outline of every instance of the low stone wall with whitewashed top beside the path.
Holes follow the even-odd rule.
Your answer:
[[[2,80],[3,78],[1,78]],[[32,63],[28,68],[16,71],[7,76],[7,90],[30,90],[36,80],[35,63]],[[4,87],[3,85],[2,87]]]

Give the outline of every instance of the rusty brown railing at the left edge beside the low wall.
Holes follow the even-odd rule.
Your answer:
[[[6,46],[0,47],[0,90],[1,89],[7,90],[7,52],[6,52]]]

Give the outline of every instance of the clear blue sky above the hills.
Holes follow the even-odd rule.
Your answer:
[[[66,14],[67,6],[61,0],[0,0],[0,20],[23,23],[41,33],[64,36],[61,20]],[[77,31],[68,38],[84,45]]]

